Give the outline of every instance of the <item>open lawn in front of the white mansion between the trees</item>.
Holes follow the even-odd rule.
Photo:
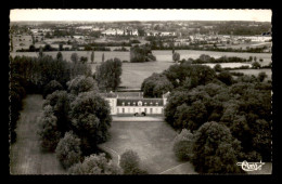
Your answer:
[[[100,146],[105,146],[119,156],[127,149],[137,152],[141,159],[141,168],[150,174],[158,174],[184,163],[178,161],[172,152],[177,132],[164,121],[114,121],[110,133],[112,139]],[[194,169],[192,165],[188,165],[178,172],[166,172],[190,174],[194,173]]]

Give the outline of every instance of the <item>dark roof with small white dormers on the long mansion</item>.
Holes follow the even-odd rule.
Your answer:
[[[163,106],[163,98],[117,98],[117,106]]]

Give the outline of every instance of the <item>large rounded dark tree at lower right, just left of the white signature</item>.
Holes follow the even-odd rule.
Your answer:
[[[239,173],[236,166],[241,146],[230,130],[218,122],[204,123],[194,134],[192,162],[200,173]]]

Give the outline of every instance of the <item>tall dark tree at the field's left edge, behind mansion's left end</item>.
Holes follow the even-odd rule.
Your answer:
[[[121,83],[121,61],[119,58],[111,58],[97,67],[95,80],[100,89],[117,90]]]

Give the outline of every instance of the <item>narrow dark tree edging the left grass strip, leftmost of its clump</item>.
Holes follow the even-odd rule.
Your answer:
[[[50,105],[46,106],[38,131],[43,149],[53,152],[60,141],[61,132],[57,130],[56,121],[57,119],[53,115],[52,107]]]

